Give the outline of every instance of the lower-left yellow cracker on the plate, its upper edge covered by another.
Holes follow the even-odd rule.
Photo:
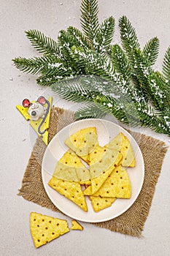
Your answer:
[[[77,206],[80,206],[82,210],[88,211],[85,197],[78,182],[64,181],[53,176],[48,184],[61,195],[64,195],[69,200],[76,203]]]

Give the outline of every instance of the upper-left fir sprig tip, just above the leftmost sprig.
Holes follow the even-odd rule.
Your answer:
[[[28,30],[26,31],[26,37],[28,37],[31,45],[33,45],[39,53],[60,56],[58,43],[50,37],[46,37],[41,31],[35,29]]]

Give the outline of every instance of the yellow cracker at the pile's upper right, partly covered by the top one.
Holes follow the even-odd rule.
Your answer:
[[[120,132],[115,138],[113,138],[108,144],[108,148],[114,148],[123,155],[121,165],[123,167],[135,167],[136,160],[134,157],[134,150],[131,146],[128,138]]]

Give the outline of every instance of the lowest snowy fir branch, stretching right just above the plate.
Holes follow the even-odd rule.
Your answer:
[[[90,107],[78,110],[77,118],[85,118],[86,110],[91,111],[87,113],[87,118],[95,118],[101,114],[112,113],[123,124],[128,124],[132,127],[141,125],[150,127],[156,132],[170,133],[166,124],[167,120],[165,121],[161,116],[158,116],[152,106],[144,102],[132,102],[131,99],[124,99],[124,97],[109,97],[109,94],[105,95],[105,91],[100,91],[100,87],[91,86],[93,84],[91,80],[87,83],[87,79],[85,78],[84,80],[80,77],[73,80],[62,80],[52,86],[53,91],[57,92],[63,99],[73,102],[95,103],[95,105],[90,103],[88,105]],[[97,109],[99,111],[98,115],[96,114]]]

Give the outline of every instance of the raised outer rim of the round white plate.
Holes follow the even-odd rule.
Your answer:
[[[110,123],[110,124],[113,124],[115,125],[116,127],[119,127],[120,129],[122,129],[123,131],[125,131],[125,133],[128,133],[128,136],[131,137],[132,140],[134,140],[134,143],[136,143],[136,140],[133,138],[133,136],[123,127],[121,127],[120,125],[118,124],[115,124],[113,121],[109,121],[109,120],[106,120],[106,119],[101,119],[101,118],[85,118],[85,119],[81,119],[81,120],[77,120],[77,121],[74,121],[72,122],[71,124],[68,124],[66,127],[63,127],[63,129],[61,129],[59,132],[62,132],[64,129],[68,129],[68,127],[72,126],[72,125],[76,125],[77,123],[80,123],[80,122],[83,122],[83,121],[101,121],[101,122],[107,122],[107,123]],[[50,143],[53,143],[53,140],[55,140],[56,137],[58,137],[58,133],[56,133],[56,135],[53,137],[52,140],[50,140]],[[47,148],[50,146],[50,143],[47,145]],[[136,143],[136,146],[139,150],[139,154],[140,154],[140,157],[142,157],[142,182],[140,184],[140,187],[139,187],[139,190],[138,190],[138,193],[136,193],[136,196],[134,197],[134,200],[130,203],[129,206],[127,206],[125,209],[123,209],[122,211],[120,211],[119,214],[117,214],[115,217],[107,217],[105,219],[84,219],[84,218],[81,218],[81,217],[75,217],[75,215],[73,214],[68,214],[67,211],[64,211],[63,208],[61,209],[60,207],[58,207],[58,205],[56,204],[56,202],[53,200],[53,198],[50,197],[50,192],[46,189],[46,182],[45,182],[45,177],[43,175],[43,172],[45,170],[43,170],[43,162],[45,161],[45,153],[47,151],[47,148],[45,149],[45,153],[43,155],[43,159],[42,159],[42,170],[41,170],[41,173],[42,173],[42,184],[43,184],[43,187],[45,188],[45,192],[47,193],[47,196],[49,197],[50,201],[55,205],[55,207],[58,208],[59,211],[61,211],[61,213],[65,214],[67,217],[71,217],[72,219],[77,219],[81,222],[91,222],[91,223],[98,223],[98,222],[106,222],[110,219],[115,219],[116,217],[119,217],[120,215],[122,215],[123,213],[125,213],[125,211],[128,211],[128,208],[131,208],[131,206],[135,203],[137,197],[139,197],[139,194],[142,190],[142,187],[143,187],[143,184],[144,184],[144,158],[143,158],[143,155],[142,155],[142,151],[141,149],[139,148],[139,145],[138,143]],[[63,196],[63,199],[64,196]],[[67,199],[67,198],[66,198]],[[117,200],[119,200],[120,198],[117,198]],[[83,211],[83,210],[82,210]],[[88,212],[87,212],[88,213]],[[94,212],[95,214],[98,214],[96,212]]]

